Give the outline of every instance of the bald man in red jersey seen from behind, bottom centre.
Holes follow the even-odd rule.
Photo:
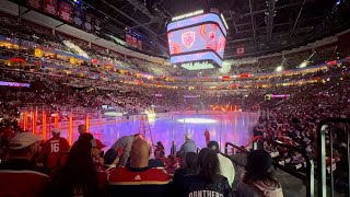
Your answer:
[[[150,147],[136,139],[130,151],[130,166],[118,166],[110,173],[112,196],[168,196],[168,175],[164,170],[149,167]]]

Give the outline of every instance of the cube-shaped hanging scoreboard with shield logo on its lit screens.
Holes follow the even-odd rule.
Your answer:
[[[226,35],[224,21],[217,13],[171,22],[167,25],[171,63],[212,61],[221,67]]]

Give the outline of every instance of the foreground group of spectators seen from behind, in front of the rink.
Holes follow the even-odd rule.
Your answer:
[[[119,138],[104,153],[105,146],[85,128],[79,126],[80,137],[71,147],[58,129],[42,144],[31,132],[7,138],[1,147],[0,195],[234,196],[235,170],[217,141],[209,141],[199,153],[194,141],[190,148],[184,143],[178,152],[172,148],[168,157],[159,141],[153,158],[148,141],[131,135]],[[261,162],[264,167],[257,167]],[[270,166],[268,152],[252,151],[235,196],[283,196],[281,185],[268,172]]]

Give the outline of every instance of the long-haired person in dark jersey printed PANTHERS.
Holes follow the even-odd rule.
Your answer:
[[[214,151],[203,148],[198,154],[197,175],[184,177],[180,196],[223,196],[232,197],[232,188],[228,178],[220,175],[220,163]]]

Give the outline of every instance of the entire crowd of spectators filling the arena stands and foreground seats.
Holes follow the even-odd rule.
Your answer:
[[[63,40],[70,40],[86,51],[91,58],[156,76],[196,74],[197,77],[208,77],[218,74],[218,72],[211,71],[185,72],[172,66],[165,67],[161,63],[127,58],[63,34],[54,36],[50,30],[34,26],[25,21],[21,24],[18,25],[14,19],[0,18],[0,34],[79,55],[78,50],[73,50],[63,44]],[[26,49],[21,49],[20,51],[8,50],[7,48],[1,49],[1,56],[13,57],[20,55],[26,60],[38,60],[28,55],[30,53],[33,51]],[[320,63],[339,59],[338,56],[337,48],[328,46],[318,48],[315,53],[307,50],[287,55],[284,56],[285,59],[281,56],[260,59],[257,63],[246,65],[246,68],[242,70],[232,69],[231,72],[236,74],[246,71],[255,73],[272,72],[277,66],[281,65],[285,67],[284,69],[294,69],[307,58],[314,63]],[[61,70],[70,70],[75,73],[94,72],[105,77],[118,73],[120,78],[106,79],[102,77],[95,79],[74,74],[62,76],[59,72],[45,72],[42,69],[24,71],[21,68],[18,70],[9,69],[1,63],[1,81],[31,84],[31,88],[0,86],[1,121],[10,120],[12,123],[11,120],[16,119],[21,111],[35,107],[50,108],[51,112],[56,113],[67,113],[72,109],[91,113],[101,111],[103,105],[108,105],[122,114],[131,115],[141,114],[151,107],[159,112],[172,112],[210,109],[209,106],[211,105],[238,105],[246,111],[253,106],[259,106],[264,113],[258,125],[254,128],[256,136],[300,147],[306,150],[311,159],[316,160],[316,128],[319,121],[327,117],[350,117],[350,83],[349,76],[346,76],[349,72],[346,65],[328,67],[325,70],[306,74],[255,78],[245,81],[253,84],[296,83],[311,79],[317,81],[312,84],[296,86],[270,85],[266,89],[228,92],[223,90],[147,86],[142,85],[143,81],[136,84],[127,84],[121,81],[135,81],[140,78],[129,71],[122,73],[113,69],[110,71],[101,71],[92,65],[80,65],[81,67],[78,69],[73,68],[68,61],[50,57],[44,57],[40,60],[44,63],[55,65]],[[249,71],[248,68],[250,67],[253,67],[253,70]],[[259,86],[255,85],[255,88]],[[265,94],[267,93],[289,94],[290,96],[287,99],[266,100]],[[80,118],[84,118],[84,115]],[[143,196],[171,196],[173,194],[177,196],[203,196],[205,193],[210,193],[212,196],[233,195],[232,184],[235,172],[234,169],[229,166],[231,161],[228,163],[225,158],[218,151],[218,143],[215,142],[208,143],[208,149],[203,148],[197,154],[197,147],[194,146],[195,141],[191,141],[190,146],[188,146],[190,139],[187,139],[184,146],[189,148],[180,149],[177,154],[172,151],[173,154],[170,157],[165,157],[164,153],[156,153],[155,158],[150,160],[151,148],[147,141],[137,136],[120,138],[106,154],[103,154],[102,142],[93,139],[92,135],[81,134],[79,140],[72,144],[69,153],[67,153],[66,151],[69,149],[67,148],[67,141],[61,140],[63,142],[58,142],[65,143],[65,149],[55,146],[57,141],[60,141],[60,138],[59,131],[54,130],[54,138],[43,146],[42,152],[37,158],[37,153],[39,153],[38,142],[40,140],[28,132],[15,134],[12,130],[13,126],[13,124],[10,124],[1,127],[0,169],[2,171],[0,171],[0,186],[5,189],[0,189],[0,196],[1,194],[9,195],[13,193],[11,189],[13,189],[12,185],[14,183],[23,188],[19,193],[40,194],[42,196],[139,196],[141,193]],[[335,171],[339,175],[338,181],[341,182],[347,179],[347,174],[345,174],[347,170],[345,162],[348,157],[348,153],[345,152],[347,134],[345,134],[346,130],[341,125],[335,125],[334,128],[338,131],[335,136],[335,160],[328,162],[327,170],[328,172]],[[237,187],[237,196],[252,196],[254,193],[259,195],[264,193],[265,196],[282,196],[281,185],[268,173],[271,158],[280,164],[295,170],[305,167],[305,159],[298,152],[291,152],[268,142],[262,143],[261,147],[270,154],[265,151],[249,153],[246,172],[241,179],[242,183],[235,186]],[[161,146],[159,149],[162,149]],[[47,159],[44,155],[48,154],[49,150],[51,152],[61,150],[61,154],[67,154],[67,161],[58,162],[58,166],[55,166],[55,164],[48,166],[44,162],[45,170],[43,170],[42,160],[45,161]],[[45,154],[43,151],[46,151]],[[329,153],[327,152],[326,155],[329,157]],[[167,171],[154,167],[159,166],[160,163],[154,160],[159,160],[162,163],[161,166]],[[260,163],[260,161],[265,162]],[[180,163],[179,170],[177,170],[179,164],[176,163]],[[28,171],[21,172],[20,177],[20,174],[13,173],[12,170]],[[170,184],[173,175],[174,182]],[[35,187],[32,190],[24,182],[26,178],[23,177],[33,178],[32,184]]]

